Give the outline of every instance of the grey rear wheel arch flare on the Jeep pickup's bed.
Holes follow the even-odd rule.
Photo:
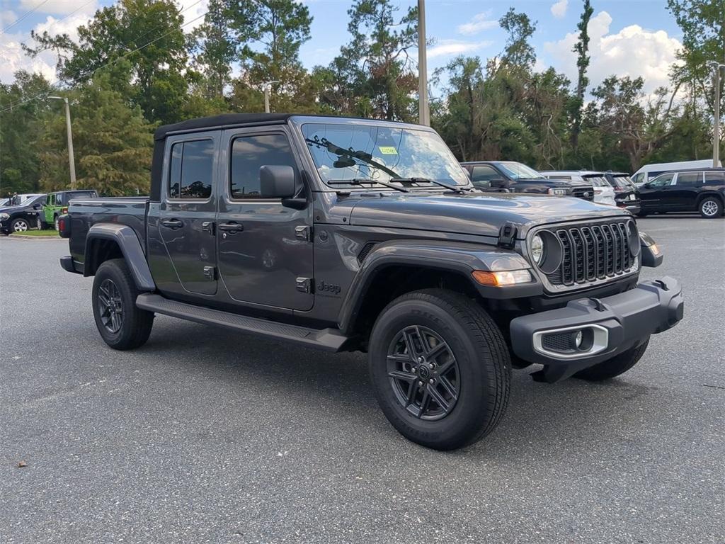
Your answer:
[[[146,254],[133,228],[112,223],[96,223],[86,235],[83,276],[94,276],[101,263],[123,258],[140,292],[156,290]]]

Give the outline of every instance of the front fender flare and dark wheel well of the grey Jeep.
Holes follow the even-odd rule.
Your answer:
[[[344,334],[369,330],[381,310],[407,292],[438,287],[479,300],[526,297],[542,292],[534,275],[531,284],[486,287],[471,276],[475,270],[530,268],[512,251],[458,242],[394,241],[378,244],[365,257],[347,292],[338,324]]]

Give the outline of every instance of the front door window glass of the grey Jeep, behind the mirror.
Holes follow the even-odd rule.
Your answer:
[[[231,144],[229,194],[233,199],[261,198],[260,168],[291,166],[297,173],[292,149],[284,134],[241,136]]]

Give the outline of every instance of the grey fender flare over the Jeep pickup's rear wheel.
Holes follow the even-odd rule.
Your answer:
[[[133,228],[115,223],[96,223],[94,226],[91,226],[88,229],[88,234],[86,234],[86,260],[91,255],[91,244],[94,240],[98,239],[116,242],[139,291],[149,292],[156,290],[156,284],[151,275],[149,263],[146,261],[146,254]],[[87,265],[84,266],[83,276],[92,276],[91,268]],[[95,268],[93,273],[95,273]]]

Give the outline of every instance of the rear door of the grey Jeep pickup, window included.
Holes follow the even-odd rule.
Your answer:
[[[217,291],[214,218],[218,147],[218,132],[167,139],[170,160],[162,181],[161,202],[154,214],[157,218],[149,218],[149,229],[157,229],[163,247],[162,255],[150,258],[152,269],[156,268],[154,278],[161,276],[159,289],[182,295],[212,295]]]

